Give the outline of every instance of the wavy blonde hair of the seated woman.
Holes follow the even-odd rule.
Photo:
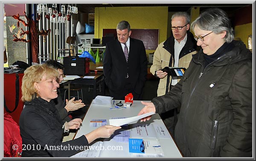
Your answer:
[[[49,67],[46,64],[42,65],[32,65],[24,71],[24,76],[22,78],[22,97],[23,102],[30,102],[35,97],[40,96],[38,91],[35,89],[34,83],[40,82],[43,76],[46,78],[58,77],[59,73],[56,69]]]

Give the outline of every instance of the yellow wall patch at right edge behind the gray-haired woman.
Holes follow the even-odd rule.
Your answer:
[[[252,23],[235,26],[235,37],[240,37],[246,47],[248,47],[248,36],[253,34],[252,26]]]

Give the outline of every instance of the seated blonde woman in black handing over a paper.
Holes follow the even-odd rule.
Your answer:
[[[32,65],[24,72],[21,99],[25,107],[20,115],[20,135],[24,144],[22,157],[69,157],[78,151],[64,147],[85,147],[96,138],[109,138],[121,128],[105,125],[63,143],[63,134],[78,129],[82,121],[73,119],[64,123],[61,120],[52,100],[58,96],[58,75],[56,69],[45,64]]]

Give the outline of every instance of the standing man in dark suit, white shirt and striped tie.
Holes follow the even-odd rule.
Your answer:
[[[142,41],[130,38],[127,21],[116,26],[118,40],[107,43],[103,59],[103,73],[110,96],[125,99],[132,93],[134,100],[142,100],[142,90],[147,76],[147,56]]]

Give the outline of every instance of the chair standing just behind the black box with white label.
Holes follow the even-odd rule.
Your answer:
[[[64,56],[76,56],[77,52],[77,43],[76,37],[67,37],[66,43],[68,44],[69,48],[58,49],[58,54],[56,60],[61,60],[61,57]]]

